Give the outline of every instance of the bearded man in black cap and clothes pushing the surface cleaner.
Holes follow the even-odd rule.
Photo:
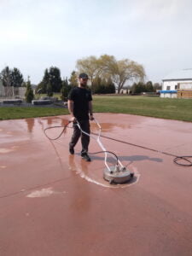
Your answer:
[[[81,137],[81,157],[86,161],[90,161],[90,156],[88,155],[90,137],[81,132],[77,125],[78,121],[81,129],[90,134],[90,120],[94,118],[92,113],[92,96],[90,90],[86,89],[87,81],[88,75],[86,73],[80,73],[79,86],[74,87],[69,92],[67,105],[72,115],[71,121],[73,121],[73,136],[69,143],[69,152],[70,154],[74,154],[74,147],[78,143],[79,137]]]

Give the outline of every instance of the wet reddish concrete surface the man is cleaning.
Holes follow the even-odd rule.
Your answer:
[[[110,185],[103,154],[85,162],[80,143],[68,154],[72,129],[56,141],[44,136],[67,118],[0,121],[0,255],[191,255],[192,167],[102,137],[135,173],[132,183]],[[96,119],[103,136],[192,155],[191,123],[112,113]],[[100,150],[91,139],[90,152]]]

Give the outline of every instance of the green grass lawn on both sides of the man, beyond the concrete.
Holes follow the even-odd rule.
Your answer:
[[[94,112],[131,113],[192,122],[192,99],[156,96],[93,96]],[[67,114],[66,108],[0,108],[0,119],[23,119]]]

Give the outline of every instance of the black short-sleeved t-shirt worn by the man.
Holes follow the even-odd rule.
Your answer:
[[[81,87],[73,88],[68,95],[73,101],[73,115],[78,120],[89,120],[89,102],[92,101],[90,90]]]

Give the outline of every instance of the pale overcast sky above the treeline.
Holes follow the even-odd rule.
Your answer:
[[[191,0],[0,0],[0,71],[38,84],[47,67],[69,77],[90,55],[128,58],[161,82],[192,68]]]

